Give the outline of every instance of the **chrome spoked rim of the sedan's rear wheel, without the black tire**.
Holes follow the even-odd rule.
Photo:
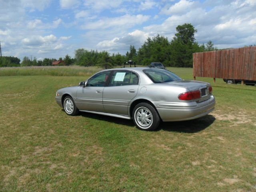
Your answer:
[[[145,107],[140,107],[136,110],[136,122],[142,129],[146,129],[151,126],[153,122],[152,113]]]

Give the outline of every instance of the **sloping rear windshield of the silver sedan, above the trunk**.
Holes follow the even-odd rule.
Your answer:
[[[164,70],[164,69],[144,69],[143,72],[154,82],[154,83],[166,83],[171,81],[182,80],[176,74]]]

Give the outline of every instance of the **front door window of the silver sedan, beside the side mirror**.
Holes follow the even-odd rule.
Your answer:
[[[98,74],[92,76],[88,80],[86,86],[88,86],[88,87],[104,87],[109,74],[110,74],[110,71],[104,71],[104,72],[101,72],[101,73],[98,73]]]

